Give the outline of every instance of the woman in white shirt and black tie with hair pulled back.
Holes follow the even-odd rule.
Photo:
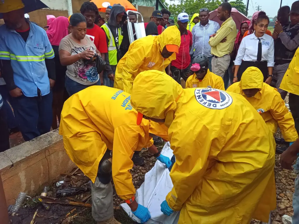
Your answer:
[[[243,72],[248,67],[257,67],[264,76],[264,82],[270,84],[274,67],[274,40],[265,34],[269,18],[260,15],[254,23],[254,33],[244,37],[235,60],[233,82],[240,81]]]

